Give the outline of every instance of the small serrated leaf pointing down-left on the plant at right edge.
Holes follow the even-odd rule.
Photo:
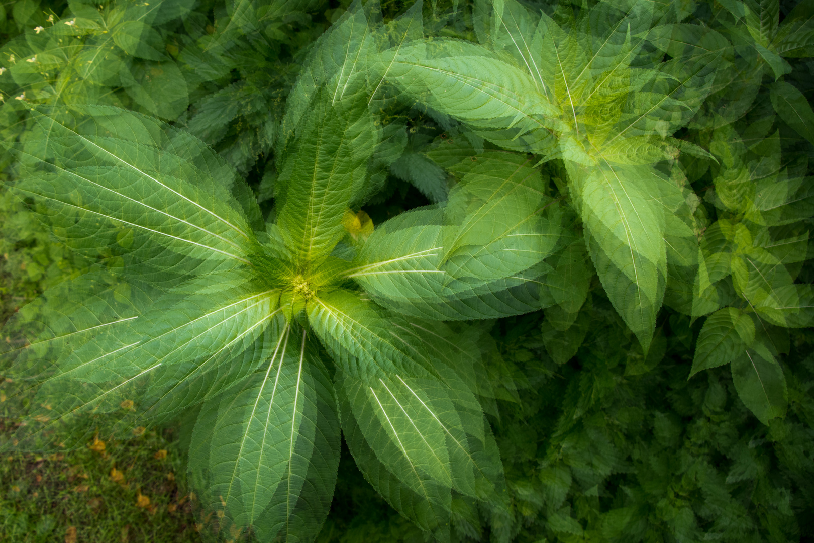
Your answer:
[[[701,370],[729,364],[755,341],[755,322],[737,308],[719,309],[704,322],[695,345],[689,377]],[[689,379],[689,378],[688,378]]]

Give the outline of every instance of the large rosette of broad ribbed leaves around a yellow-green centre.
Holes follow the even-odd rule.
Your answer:
[[[352,47],[343,24],[362,20],[323,47]],[[387,140],[353,62],[323,64],[292,110],[268,224],[234,169],[182,130],[115,107],[32,112],[10,146],[11,190],[102,260],[4,330],[22,417],[7,446],[197,413],[190,480],[210,532],[303,541],[327,515],[341,427],[419,528],[444,541],[485,519],[508,536],[479,399],[484,340],[444,321],[539,308],[557,208],[526,155],[492,151],[450,164],[460,181],[445,204],[371,231],[355,212]]]

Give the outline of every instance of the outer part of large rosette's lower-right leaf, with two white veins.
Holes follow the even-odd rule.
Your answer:
[[[414,492],[422,488],[410,481],[426,475],[466,496],[496,500],[502,480],[497,445],[471,392],[460,390],[470,396],[465,401],[455,381],[403,374],[348,376],[341,383],[365,441]]]

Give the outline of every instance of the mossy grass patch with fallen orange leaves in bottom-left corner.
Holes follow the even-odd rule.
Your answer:
[[[200,541],[172,430],[0,458],[2,543]]]

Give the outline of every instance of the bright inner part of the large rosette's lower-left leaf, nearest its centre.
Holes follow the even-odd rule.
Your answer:
[[[168,420],[256,370],[282,334],[278,300],[278,290],[239,270],[200,276],[158,300],[131,326],[142,341],[126,354],[161,365],[133,398],[139,417]]]

